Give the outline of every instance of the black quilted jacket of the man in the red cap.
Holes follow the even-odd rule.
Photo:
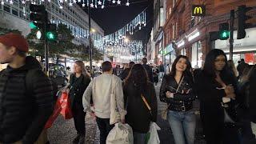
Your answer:
[[[26,90],[28,70],[38,69],[31,76],[32,93]],[[17,69],[7,66],[0,76],[0,142],[22,140],[33,143],[53,110],[53,88],[42,72],[40,63],[26,57],[26,65]]]

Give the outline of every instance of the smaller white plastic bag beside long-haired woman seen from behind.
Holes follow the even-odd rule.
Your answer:
[[[147,144],[159,144],[160,139],[158,137],[158,130],[161,130],[161,128],[155,123],[151,122],[150,124],[150,139],[148,140]]]

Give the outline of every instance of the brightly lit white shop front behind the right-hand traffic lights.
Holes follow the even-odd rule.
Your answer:
[[[234,49],[233,61],[238,65],[238,61],[243,58],[250,65],[256,64],[256,28],[246,29],[246,38],[237,39],[237,31],[234,31]],[[216,40],[214,42],[215,49],[221,49],[230,59],[230,43],[229,40]]]

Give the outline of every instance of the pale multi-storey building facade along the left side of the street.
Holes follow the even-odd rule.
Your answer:
[[[20,30],[23,35],[30,34],[30,3],[22,4],[21,0],[14,0],[13,4],[4,2],[0,5],[0,26],[3,28]],[[62,6],[58,0],[45,2],[48,17],[51,23],[65,24],[74,35],[75,44],[88,45],[89,25],[88,15],[76,4],[70,6],[63,2]],[[104,30],[94,20],[91,20],[91,27],[95,30],[92,34],[93,39],[104,36]]]

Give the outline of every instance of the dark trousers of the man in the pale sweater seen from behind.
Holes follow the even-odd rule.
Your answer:
[[[106,144],[106,137],[113,129],[114,125],[110,125],[110,118],[96,118],[98,129],[100,131],[100,142]]]

